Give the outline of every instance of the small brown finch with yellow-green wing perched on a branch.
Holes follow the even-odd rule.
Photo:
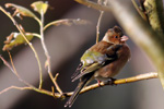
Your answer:
[[[103,39],[89,48],[81,57],[81,62],[71,76],[72,82],[80,80],[77,88],[65,107],[72,107],[81,89],[91,81],[112,80],[125,66],[131,57],[130,49],[119,26],[109,28]]]

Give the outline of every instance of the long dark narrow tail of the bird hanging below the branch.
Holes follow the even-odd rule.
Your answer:
[[[69,106],[69,108],[70,108],[73,105],[77,97],[79,96],[80,90],[89,83],[90,78],[91,78],[91,74],[87,77],[84,77],[84,80],[81,80],[81,82],[78,84],[73,95],[66,102],[65,107]]]

